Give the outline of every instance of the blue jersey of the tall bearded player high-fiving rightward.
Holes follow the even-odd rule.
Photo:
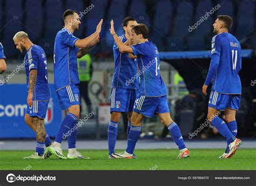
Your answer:
[[[78,39],[65,28],[56,35],[53,54],[56,91],[69,85],[79,84],[77,68],[77,52],[79,49],[75,46]]]

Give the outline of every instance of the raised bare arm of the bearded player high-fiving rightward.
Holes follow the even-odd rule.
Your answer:
[[[99,24],[96,27],[96,31],[91,36],[86,37],[84,39],[78,39],[75,43],[75,46],[78,48],[90,46],[90,44],[93,43],[93,41],[96,40],[96,38],[99,36],[99,33],[102,30],[102,22],[103,19],[100,20]]]

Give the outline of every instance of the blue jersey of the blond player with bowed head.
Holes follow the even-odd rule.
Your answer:
[[[32,45],[24,57],[26,70],[26,86],[29,90],[30,70],[37,70],[36,86],[33,90],[33,100],[49,101],[50,86],[48,84],[47,60],[41,46]]]

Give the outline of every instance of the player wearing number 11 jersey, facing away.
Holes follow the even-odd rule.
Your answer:
[[[204,82],[203,93],[212,81],[212,91],[208,102],[207,118],[219,133],[227,140],[227,148],[219,158],[230,158],[242,144],[237,139],[237,122],[235,113],[241,99],[241,81],[238,72],[241,70],[241,46],[228,30],[232,26],[230,16],[221,15],[213,24],[212,60]],[[218,117],[218,112],[225,112],[225,121]]]

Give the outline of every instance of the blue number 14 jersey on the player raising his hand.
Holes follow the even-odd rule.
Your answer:
[[[157,46],[152,42],[132,45],[134,56],[138,56],[140,73],[140,95],[160,97],[167,94],[164,80],[160,75],[160,60]]]

